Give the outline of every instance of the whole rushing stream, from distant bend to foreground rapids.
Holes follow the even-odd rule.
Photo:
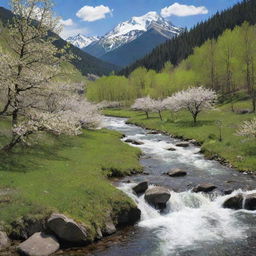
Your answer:
[[[143,142],[138,145],[141,164],[147,175],[126,177],[116,185],[129,195],[142,212],[136,227],[100,242],[86,251],[72,255],[93,256],[255,256],[256,211],[224,209],[223,202],[237,194],[256,193],[255,176],[239,173],[200,154],[200,148],[176,147],[180,140],[163,134],[150,134],[126,119],[106,117],[105,127],[123,133],[126,139]],[[173,147],[176,151],[168,151]],[[163,173],[181,168],[187,176],[172,178]],[[129,183],[127,181],[129,180]],[[159,212],[149,206],[144,196],[136,196],[132,187],[147,180],[171,190],[167,208]],[[201,183],[213,183],[214,193],[193,193]],[[153,186],[152,185],[152,186]],[[234,191],[223,195],[223,191]],[[71,255],[71,254],[65,254]]]

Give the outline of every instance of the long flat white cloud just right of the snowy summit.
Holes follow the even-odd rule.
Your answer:
[[[207,14],[208,10],[205,6],[194,6],[194,5],[183,5],[179,3],[174,3],[169,7],[165,7],[161,10],[161,15],[163,17],[170,17],[174,16],[192,16],[198,14]]]

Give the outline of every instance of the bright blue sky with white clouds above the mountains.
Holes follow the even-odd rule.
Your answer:
[[[8,8],[8,2],[0,0],[0,6]],[[65,24],[63,37],[78,33],[101,36],[118,23],[149,11],[162,11],[174,25],[190,28],[237,2],[240,0],[55,0],[55,12]]]

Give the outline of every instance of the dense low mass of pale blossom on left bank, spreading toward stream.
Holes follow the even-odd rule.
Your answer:
[[[22,119],[12,127],[12,139],[3,147],[8,151],[20,142],[29,143],[30,135],[50,132],[55,135],[79,135],[82,128],[100,124],[101,115],[96,105],[78,95],[72,85],[51,84],[34,98],[27,98],[29,105],[23,109]]]

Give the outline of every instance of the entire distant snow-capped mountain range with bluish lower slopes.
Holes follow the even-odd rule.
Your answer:
[[[77,35],[68,41],[97,58],[126,66],[182,31],[158,13],[149,12],[118,24],[103,37]]]

